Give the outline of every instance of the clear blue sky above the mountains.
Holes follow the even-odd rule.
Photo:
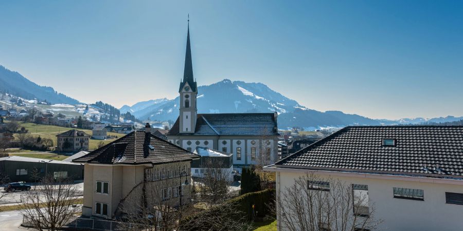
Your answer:
[[[3,1],[0,65],[82,102],[262,82],[316,110],[463,115],[462,1]]]

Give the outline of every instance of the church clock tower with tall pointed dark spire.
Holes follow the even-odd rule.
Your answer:
[[[193,64],[191,61],[190,47],[190,20],[188,19],[187,47],[185,53],[185,69],[183,81],[180,83],[180,133],[194,133],[198,108],[196,98],[198,87],[193,79]]]

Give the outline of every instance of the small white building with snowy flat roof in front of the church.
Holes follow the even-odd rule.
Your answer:
[[[218,151],[206,147],[196,147],[193,152],[201,159],[193,160],[191,163],[191,176],[203,178],[207,174],[208,169],[220,168],[224,172],[223,176],[228,176],[228,181],[233,181],[233,154],[223,151]]]

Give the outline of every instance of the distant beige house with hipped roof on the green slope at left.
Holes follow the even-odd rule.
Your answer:
[[[84,131],[71,129],[57,136],[57,150],[65,152],[86,151],[90,143],[90,135]]]

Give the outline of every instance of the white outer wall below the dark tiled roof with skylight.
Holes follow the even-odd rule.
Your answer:
[[[310,170],[265,167],[276,172],[277,199],[295,179]],[[462,230],[463,205],[446,204],[446,192],[463,194],[463,180],[427,177],[315,171],[320,178],[339,179],[346,184],[368,185],[369,205],[381,230]],[[424,200],[394,198],[393,188],[422,189]],[[282,224],[278,224],[280,227]],[[284,230],[284,228],[279,228]]]

